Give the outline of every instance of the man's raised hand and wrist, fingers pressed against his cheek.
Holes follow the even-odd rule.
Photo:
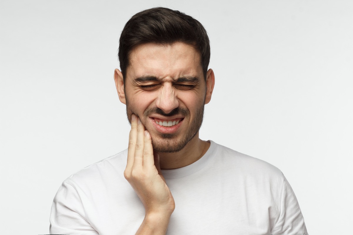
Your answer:
[[[144,223],[149,223],[151,227],[151,224],[157,222],[160,228],[164,222],[166,231],[170,215],[175,208],[174,199],[162,175],[159,156],[153,153],[151,135],[134,114],[131,116],[124,176],[145,207]]]

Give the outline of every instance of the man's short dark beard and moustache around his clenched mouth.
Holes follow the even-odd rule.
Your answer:
[[[129,102],[126,99],[126,114],[130,124],[131,124],[130,118],[132,113],[137,115],[133,107],[130,107]],[[165,117],[170,117],[173,115],[183,115],[184,116],[183,121],[185,120],[185,118],[189,118],[189,120],[191,121],[191,125],[189,126],[184,136],[181,137],[181,139],[178,139],[178,136],[182,135],[183,133],[181,134],[180,133],[179,134],[157,133],[156,134],[157,136],[151,135],[152,146],[154,151],[161,152],[161,153],[175,153],[182,150],[186,146],[186,144],[189,143],[192,140],[192,138],[196,136],[196,134],[198,133],[202,125],[203,113],[204,113],[204,102],[201,103],[199,108],[196,110],[195,118],[193,120],[190,120],[191,115],[190,115],[189,109],[186,109],[184,107],[177,107],[176,109],[172,110],[170,113],[164,113],[158,107],[151,107],[144,111],[143,119],[140,117],[139,118],[144,126],[146,126],[145,120],[148,120],[151,114],[159,114]]]

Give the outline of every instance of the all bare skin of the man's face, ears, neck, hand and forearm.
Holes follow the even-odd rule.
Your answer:
[[[209,69],[205,80],[200,54],[189,44],[145,43],[132,49],[125,82],[118,69],[114,79],[131,122],[124,175],[145,207],[137,234],[165,234],[175,203],[160,169],[190,165],[209,148],[198,131],[214,73]],[[156,120],[179,123],[163,127]]]

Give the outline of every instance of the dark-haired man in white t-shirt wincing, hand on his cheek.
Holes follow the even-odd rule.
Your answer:
[[[114,74],[131,123],[128,149],[71,175],[52,234],[307,234],[297,199],[272,165],[199,139],[215,76],[207,33],[152,8],[121,33]]]

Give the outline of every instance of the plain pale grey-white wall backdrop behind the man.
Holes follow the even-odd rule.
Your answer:
[[[2,0],[1,233],[48,234],[61,182],[127,148],[113,80],[120,32],[157,6],[209,33],[216,82],[201,138],[280,168],[309,234],[350,233],[349,0]]]

